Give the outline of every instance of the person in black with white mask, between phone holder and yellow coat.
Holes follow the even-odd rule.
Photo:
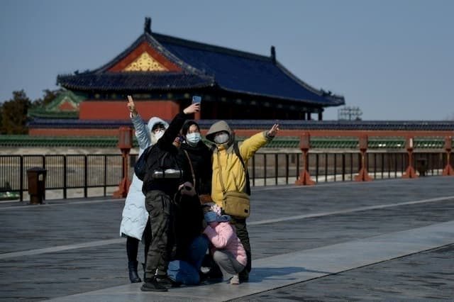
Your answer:
[[[182,127],[179,147],[180,167],[185,186],[175,197],[175,257],[169,264],[170,279],[182,284],[199,284],[200,268],[208,250],[208,239],[202,234],[204,214],[201,198],[211,199],[211,150],[201,140],[195,121]]]

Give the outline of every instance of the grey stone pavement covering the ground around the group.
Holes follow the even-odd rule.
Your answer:
[[[250,282],[143,293],[122,200],[1,203],[1,301],[450,300],[454,177],[253,189]],[[140,255],[143,259],[143,255]]]

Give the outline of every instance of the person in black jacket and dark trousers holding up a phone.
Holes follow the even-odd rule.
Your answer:
[[[142,191],[145,195],[145,207],[150,217],[151,241],[145,267],[145,283],[142,291],[167,291],[172,280],[167,276],[170,253],[173,247],[173,198],[182,184],[182,169],[174,145],[179,130],[189,114],[198,112],[200,104],[184,108],[172,120],[167,130],[157,134],[157,142],[151,147],[146,159],[147,173],[143,179]]]

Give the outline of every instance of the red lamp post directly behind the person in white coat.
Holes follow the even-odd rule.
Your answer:
[[[114,192],[114,198],[123,198],[128,194],[129,186],[131,181],[129,181],[128,176],[128,160],[129,152],[133,147],[133,129],[130,127],[120,127],[118,135],[118,148],[121,150],[121,155],[123,157],[123,172],[120,184],[118,185],[118,190]]]

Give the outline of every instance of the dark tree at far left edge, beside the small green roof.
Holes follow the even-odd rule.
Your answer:
[[[27,134],[27,111],[31,106],[25,91],[13,91],[13,99],[5,101],[1,109],[2,134]]]

